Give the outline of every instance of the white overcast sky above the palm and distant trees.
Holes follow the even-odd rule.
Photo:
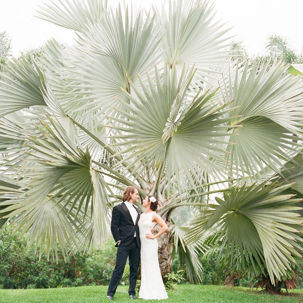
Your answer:
[[[59,3],[58,0],[54,0]],[[131,2],[131,0],[125,0]],[[187,0],[184,0],[187,1]],[[161,0],[133,0],[145,8],[151,3],[161,5]],[[227,22],[232,27],[230,35],[243,41],[249,55],[263,53],[266,37],[270,34],[288,38],[290,44],[301,53],[303,46],[303,1],[302,0],[213,0],[216,20]],[[12,53],[43,45],[47,39],[55,38],[60,43],[73,44],[75,36],[71,30],[33,17],[38,5],[51,0],[1,0],[2,14],[0,32],[6,31],[12,37]],[[118,0],[109,0],[115,5]]]

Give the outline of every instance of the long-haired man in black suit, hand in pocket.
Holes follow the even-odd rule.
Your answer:
[[[113,207],[111,231],[116,241],[116,266],[109,282],[107,298],[113,300],[116,289],[122,278],[126,260],[129,260],[129,289],[131,299],[135,299],[135,286],[140,263],[140,238],[138,221],[140,210],[133,205],[139,199],[138,189],[128,186],[122,196],[122,203]]]

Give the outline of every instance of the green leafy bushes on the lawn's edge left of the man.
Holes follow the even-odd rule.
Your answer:
[[[45,259],[38,261],[31,249],[27,251],[24,237],[18,239],[18,232],[11,235],[12,228],[0,229],[0,288],[53,288],[81,285],[108,285],[115,267],[116,248],[112,239],[93,255],[76,254],[76,259],[58,264]],[[129,266],[121,279],[128,284]]]

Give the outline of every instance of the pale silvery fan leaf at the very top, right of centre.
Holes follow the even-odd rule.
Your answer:
[[[170,0],[167,12],[165,4],[157,11],[157,26],[163,35],[163,58],[170,67],[181,73],[183,65],[195,65],[195,80],[202,82],[228,72],[228,66],[221,63],[229,57],[229,29],[223,29],[219,22],[212,23],[214,5],[200,0]],[[223,38],[224,37],[224,38]],[[219,67],[219,69],[217,69]]]

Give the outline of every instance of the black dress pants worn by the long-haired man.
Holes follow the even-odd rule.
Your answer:
[[[135,295],[135,287],[138,276],[138,268],[140,263],[140,248],[137,244],[136,238],[134,237],[132,243],[123,246],[121,243],[117,248],[116,266],[112,273],[111,281],[109,282],[107,295],[115,295],[116,289],[122,278],[126,260],[128,257],[129,261],[129,288],[128,294]]]

